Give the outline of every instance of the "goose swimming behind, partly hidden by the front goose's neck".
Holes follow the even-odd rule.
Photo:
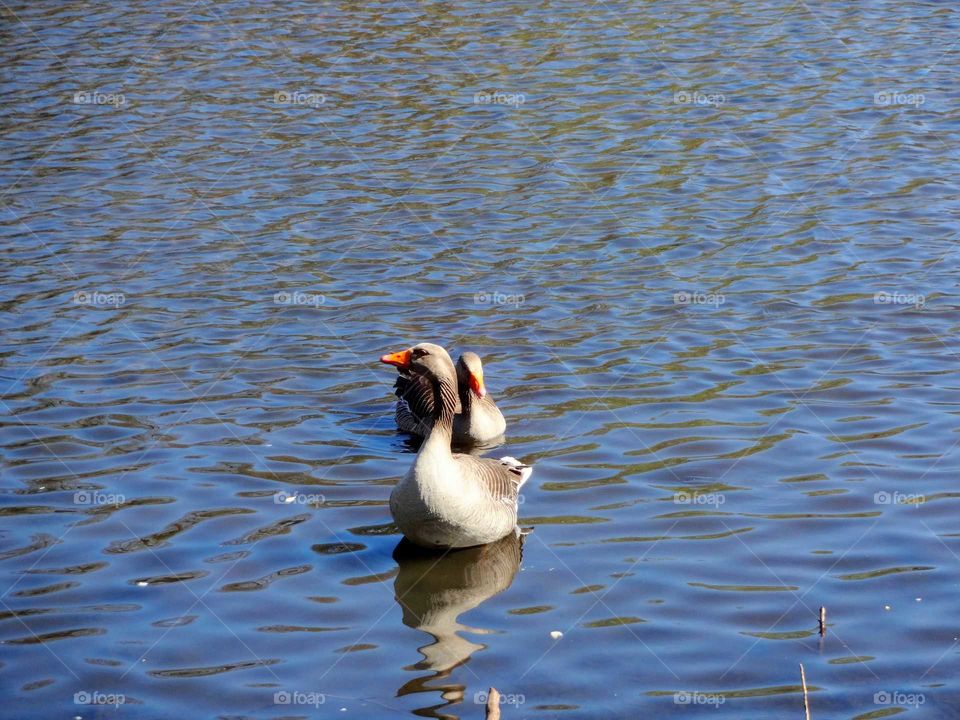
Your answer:
[[[433,394],[422,377],[400,368],[394,385],[397,395],[397,427],[426,437],[430,434]],[[507,421],[483,384],[480,356],[465,352],[457,361],[457,395],[460,411],[453,418],[453,442],[458,445],[486,443],[503,435]]]

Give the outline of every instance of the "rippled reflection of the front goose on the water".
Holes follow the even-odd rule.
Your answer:
[[[403,624],[422,630],[434,642],[418,648],[423,659],[407,670],[429,670],[403,684],[397,691],[402,697],[412,693],[439,692],[446,701],[415,714],[422,717],[453,718],[440,709],[463,701],[466,686],[460,683],[431,685],[442,680],[466,663],[486,645],[471,642],[460,631],[491,634],[493,630],[461,625],[460,616],[497,593],[510,587],[520,568],[523,534],[519,531],[497,542],[480,547],[437,552],[418,548],[407,540],[400,541],[393,557],[400,566],[393,588],[403,609]],[[480,687],[478,690],[486,690]]]

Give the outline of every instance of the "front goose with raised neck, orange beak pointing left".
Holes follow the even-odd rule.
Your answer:
[[[460,398],[447,351],[420,343],[380,361],[422,379],[432,408],[427,437],[390,493],[390,513],[404,536],[424,547],[457,548],[485,545],[514,532],[520,487],[533,468],[512,457],[494,460],[451,452]]]

